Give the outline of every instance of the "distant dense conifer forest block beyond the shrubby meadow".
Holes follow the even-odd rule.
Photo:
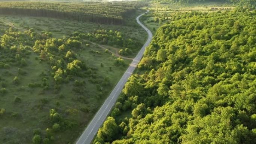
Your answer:
[[[1,2],[0,14],[41,16],[101,24],[124,24],[125,16],[134,14],[135,9],[141,4],[140,2]]]

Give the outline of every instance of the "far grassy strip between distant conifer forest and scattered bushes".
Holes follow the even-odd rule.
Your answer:
[[[106,24],[95,24],[92,22],[79,22],[69,21],[54,18],[41,18],[41,17],[30,17],[30,16],[10,16],[0,15],[0,21],[12,24],[15,27],[30,29],[34,28],[37,32],[50,31],[54,37],[63,38],[63,36],[70,36],[75,31],[81,33],[91,33],[99,28],[113,31],[122,31],[125,33],[126,38],[136,38],[143,43],[146,40],[145,32],[135,22],[135,18],[140,12],[135,13],[129,20],[132,21],[131,26],[124,25],[106,25]],[[142,13],[142,12],[141,12]]]

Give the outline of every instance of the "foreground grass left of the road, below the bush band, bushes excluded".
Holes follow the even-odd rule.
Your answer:
[[[97,54],[92,54],[91,50],[98,51]],[[104,52],[103,49],[97,46],[86,47],[79,53],[80,59],[84,59],[89,67],[98,69],[95,71],[97,78],[104,79],[109,77],[110,86],[103,88],[102,96],[99,96],[99,91],[95,84],[89,82],[88,78],[74,77],[76,80],[85,80],[85,92],[83,95],[77,95],[73,92],[74,83],[70,82],[61,86],[58,94],[54,94],[54,80],[52,80],[49,70],[51,67],[46,62],[35,61],[37,55],[31,54],[28,58],[28,65],[22,70],[27,73],[25,76],[19,76],[20,84],[13,86],[12,80],[18,75],[18,68],[11,67],[9,70],[1,70],[0,76],[4,78],[2,85],[5,85],[7,93],[0,96],[0,105],[6,109],[8,117],[1,117],[0,120],[0,141],[1,143],[18,143],[22,137],[26,135],[31,140],[33,130],[36,128],[45,130],[49,125],[49,110],[54,108],[59,113],[64,114],[65,118],[77,122],[79,129],[65,131],[64,134],[56,138],[55,143],[74,141],[79,132],[81,132],[86,123],[89,122],[94,113],[98,110],[104,99],[109,95],[112,88],[121,78],[126,70],[126,67],[131,61],[126,60],[126,67],[116,67],[114,65],[115,56]],[[101,67],[101,63],[103,67]],[[112,67],[112,70],[109,70]],[[40,74],[45,73],[49,78],[49,90],[42,91],[41,88],[29,88],[28,83],[38,83],[41,81]],[[15,97],[21,98],[21,102],[15,102]],[[88,112],[82,112],[81,109],[86,109]],[[69,111],[72,111],[69,112]],[[24,139],[22,143],[28,143]]]

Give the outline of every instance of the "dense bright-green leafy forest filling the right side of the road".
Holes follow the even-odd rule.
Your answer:
[[[176,13],[94,144],[255,144],[255,101],[256,10]]]

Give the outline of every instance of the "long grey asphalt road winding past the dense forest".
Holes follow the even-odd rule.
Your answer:
[[[147,11],[148,12],[148,11]],[[146,13],[147,13],[146,12]],[[144,14],[144,13],[143,13]],[[125,83],[127,82],[128,78],[133,73],[134,69],[137,67],[138,62],[143,56],[143,53],[145,51],[146,46],[149,45],[150,41],[152,40],[152,33],[149,29],[147,29],[141,22],[139,21],[140,16],[139,15],[136,20],[138,24],[141,25],[141,27],[144,28],[144,30],[147,31],[148,38],[144,46],[141,48],[140,52],[138,52],[137,56],[133,59],[132,63],[128,67],[128,69],[125,71],[122,78],[119,80],[109,97],[106,99],[104,104],[101,106],[100,110],[95,114],[94,118],[91,120],[83,134],[80,136],[80,138],[76,141],[76,144],[91,144],[92,140],[94,139],[95,135],[97,134],[98,129],[103,124],[104,120],[107,118],[109,112],[111,111],[112,107],[115,105],[116,100],[118,96],[120,95],[122,89],[124,88]]]

